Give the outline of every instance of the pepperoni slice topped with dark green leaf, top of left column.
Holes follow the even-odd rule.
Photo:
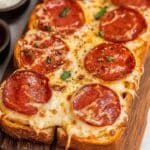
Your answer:
[[[37,12],[38,26],[42,30],[56,28],[61,33],[71,34],[83,26],[84,13],[75,0],[51,0]]]

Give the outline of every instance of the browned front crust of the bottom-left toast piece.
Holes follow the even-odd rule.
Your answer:
[[[4,117],[0,120],[0,126],[5,133],[17,139],[33,140],[45,144],[53,142],[55,128],[41,130],[36,133],[31,127],[11,122]]]

